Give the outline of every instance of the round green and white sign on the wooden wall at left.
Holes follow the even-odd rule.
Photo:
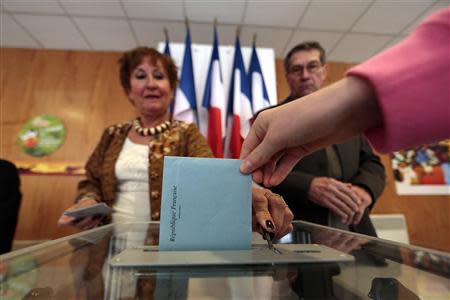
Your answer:
[[[22,126],[18,143],[26,154],[45,156],[61,146],[65,135],[64,124],[58,117],[40,115],[31,118]]]

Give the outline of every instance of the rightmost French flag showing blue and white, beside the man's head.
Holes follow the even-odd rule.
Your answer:
[[[253,105],[253,113],[256,115],[260,110],[270,106],[269,94],[267,93],[266,82],[261,71],[256,45],[253,42],[250,67],[248,70],[248,82],[250,83],[250,99]]]

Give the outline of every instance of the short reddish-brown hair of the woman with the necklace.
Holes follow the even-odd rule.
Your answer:
[[[175,90],[178,84],[178,73],[177,67],[173,62],[172,58],[160,53],[158,50],[149,47],[137,47],[130,51],[125,52],[119,59],[120,64],[120,83],[128,93],[131,89],[131,73],[133,70],[139,66],[144,57],[150,58],[150,63],[156,65],[158,62],[161,63],[167,75],[169,77],[169,83],[172,90]]]

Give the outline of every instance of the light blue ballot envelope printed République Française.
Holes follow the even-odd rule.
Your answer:
[[[251,247],[251,177],[237,159],[164,157],[159,250]]]

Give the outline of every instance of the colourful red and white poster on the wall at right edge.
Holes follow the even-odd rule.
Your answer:
[[[450,195],[450,140],[392,153],[399,195]]]

